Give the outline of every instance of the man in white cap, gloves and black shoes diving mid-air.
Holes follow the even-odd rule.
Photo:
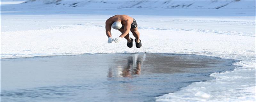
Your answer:
[[[117,29],[122,34],[117,37],[115,40],[112,38],[111,35],[111,26],[114,29]],[[132,35],[136,38],[135,44],[137,48],[140,48],[142,46],[141,40],[140,40],[140,33],[138,31],[137,22],[134,18],[127,16],[127,15],[115,15],[113,17],[108,18],[106,21],[106,34],[108,36],[108,43],[112,43],[114,41],[115,43],[118,43],[122,38],[125,38],[127,40],[127,46],[132,47],[132,41],[133,39],[129,37],[129,32],[132,32]]]

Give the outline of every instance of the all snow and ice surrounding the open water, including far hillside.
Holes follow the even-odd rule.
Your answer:
[[[128,48],[125,39],[107,43],[105,21],[116,14],[136,19],[141,48]],[[120,35],[111,32],[114,38]],[[213,73],[213,80],[192,83],[156,101],[254,102],[255,1],[55,0],[1,5],[1,59],[109,53],[240,60],[233,71]]]

